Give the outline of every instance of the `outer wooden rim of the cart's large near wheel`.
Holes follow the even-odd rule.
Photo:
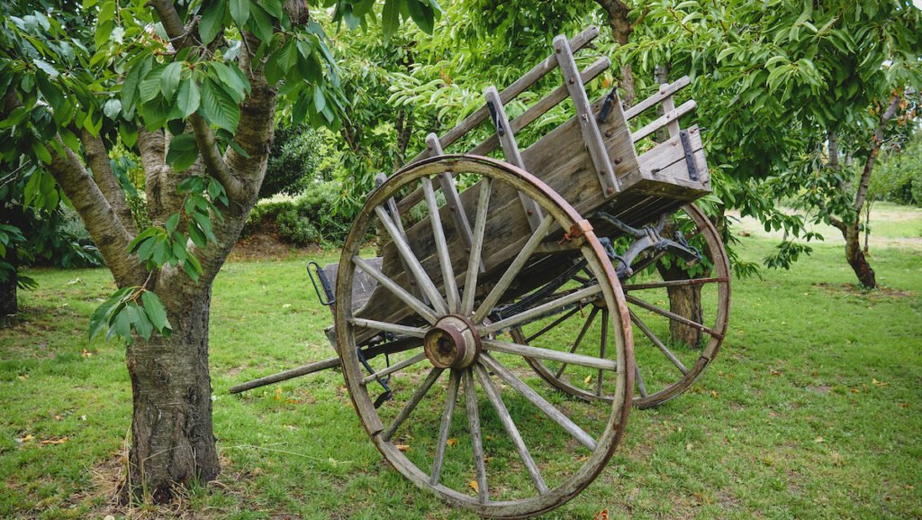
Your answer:
[[[514,187],[538,202],[538,205],[545,212],[548,212],[556,223],[561,224],[563,229],[577,229],[583,226],[585,242],[582,251],[584,256],[587,257],[589,267],[600,275],[600,279],[609,282],[599,284],[600,296],[604,297],[610,308],[617,309],[617,312],[612,313],[613,320],[611,321],[612,333],[616,337],[615,343],[619,344],[616,346],[616,358],[619,367],[629,369],[618,369],[616,372],[618,381],[620,381],[618,392],[611,399],[608,420],[605,423],[603,433],[597,439],[596,448],[589,454],[579,469],[566,478],[561,485],[547,490],[543,494],[536,493],[535,496],[512,501],[492,502],[488,500],[487,502],[480,502],[476,496],[470,496],[448,488],[441,483],[432,485],[430,475],[427,474],[425,469],[421,469],[410,461],[407,455],[401,452],[392,440],[384,438],[384,424],[373,407],[371,395],[361,385],[361,361],[356,355],[356,325],[351,321],[351,286],[356,267],[352,259],[355,255],[358,255],[365,232],[372,224],[375,208],[384,204],[402,187],[420,180],[421,177],[438,175],[443,172],[462,172],[490,177],[492,181],[500,181]],[[391,176],[381,187],[372,192],[349,232],[339,266],[335,312],[337,345],[339,345],[337,350],[342,362],[343,375],[349,389],[349,396],[361,418],[363,427],[372,437],[372,441],[384,455],[384,458],[420,489],[431,490],[442,497],[443,500],[483,516],[521,518],[545,513],[571,500],[581,490],[585,489],[605,467],[621,441],[631,408],[633,390],[633,370],[630,369],[630,367],[633,367],[631,325],[617,275],[611,267],[597,237],[589,228],[588,223],[573,210],[573,207],[565,200],[562,200],[550,187],[544,185],[533,175],[529,175],[511,164],[477,156],[443,155],[411,164]],[[483,365],[478,366],[483,367]],[[455,376],[453,375],[452,377],[454,378]],[[461,378],[462,376],[457,377]],[[489,376],[487,377],[489,378]],[[473,379],[472,376],[471,379]],[[483,382],[479,382],[481,389],[483,389]],[[457,388],[455,387],[456,390]]]

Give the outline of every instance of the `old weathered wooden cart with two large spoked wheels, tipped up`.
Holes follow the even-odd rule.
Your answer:
[[[337,357],[233,390],[341,366],[399,472],[479,514],[523,517],[597,477],[632,404],[688,389],[729,307],[720,237],[691,205],[710,185],[697,127],[679,127],[694,102],[673,102],[689,81],[628,110],[614,90],[591,103],[585,83],[609,59],[580,70],[573,53],[596,35],[554,39],[538,67],[382,179],[338,264],[315,266]],[[558,68],[562,86],[509,120],[503,106]],[[575,115],[520,150],[516,135],[565,100]],[[635,117],[646,124],[632,131]],[[481,123],[489,139],[443,151]],[[504,161],[487,157],[497,150]]]

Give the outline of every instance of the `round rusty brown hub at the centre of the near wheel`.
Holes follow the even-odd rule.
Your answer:
[[[436,321],[422,343],[426,357],[439,369],[466,369],[480,354],[480,336],[474,324],[455,314]]]

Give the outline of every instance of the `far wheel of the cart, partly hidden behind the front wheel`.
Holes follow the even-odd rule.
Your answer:
[[[660,405],[688,390],[714,360],[727,332],[729,266],[714,224],[690,204],[669,217],[662,235],[673,238],[676,231],[699,253],[697,257],[647,248],[632,260],[630,270],[623,265],[618,270],[634,325],[633,405],[638,407]],[[560,290],[587,281],[585,272],[574,272]],[[566,342],[570,352],[608,357],[607,320],[609,309],[604,302],[595,302],[530,323],[512,334],[516,343]],[[542,359],[529,362],[563,392],[589,400],[609,399],[611,389],[604,372]]]

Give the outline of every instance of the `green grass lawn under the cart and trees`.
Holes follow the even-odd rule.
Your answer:
[[[888,238],[918,238],[919,212],[886,209],[898,215],[879,224]],[[773,245],[753,233],[739,250],[761,260]],[[884,288],[868,294],[832,240],[791,271],[736,281],[714,366],[690,393],[634,410],[606,471],[547,517],[922,518],[922,247],[872,255]],[[22,294],[18,327],[0,331],[0,517],[471,517],[383,462],[337,371],[227,393],[333,355],[304,260],[219,274],[211,370],[223,473],[161,509],[111,505],[131,389],[124,346],[86,335],[108,272],[30,271],[40,288]]]

